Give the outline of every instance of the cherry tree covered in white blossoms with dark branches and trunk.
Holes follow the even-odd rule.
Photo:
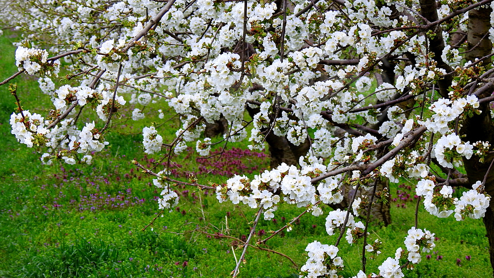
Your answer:
[[[404,178],[414,181],[432,215],[483,217],[494,265],[491,2],[11,3],[3,20],[23,33],[15,53],[19,71],[0,85],[35,75],[50,95],[53,107],[42,116],[24,110],[16,85],[9,85],[19,106],[12,134],[39,150],[42,163],[91,163],[91,152],[111,144],[105,134],[129,103],[138,107],[132,120],[143,119],[150,103],[166,103],[179,115],[172,142],[163,141],[157,126],[142,130],[144,152],[162,159],[190,146],[209,156],[216,144],[268,144],[271,170],[214,186],[195,177],[174,180],[167,169],[133,161],[155,177],[160,209],[179,203],[172,185],[184,184],[257,210],[233,276],[260,217],[273,218],[284,202],[326,217],[327,233],[339,235],[332,245],[307,245],[301,277],[337,277],[345,266],[338,256],[342,239],[363,241],[357,278],[403,277],[441,233],[419,229],[417,218],[394,257],[378,269],[365,265],[380,253],[381,242],[367,242],[372,209],[386,203],[388,182]],[[81,123],[83,110],[94,111],[91,121]],[[161,110],[153,113],[163,118]],[[226,126],[222,137],[204,137],[214,123]],[[454,187],[466,188],[459,199]],[[335,209],[323,215],[327,205]]]

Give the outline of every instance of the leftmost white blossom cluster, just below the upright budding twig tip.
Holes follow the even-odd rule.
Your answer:
[[[50,146],[50,131],[45,128],[44,118],[39,114],[31,114],[29,110],[23,110],[22,113],[13,113],[10,116],[11,133],[14,134],[22,144],[29,148],[33,145]]]

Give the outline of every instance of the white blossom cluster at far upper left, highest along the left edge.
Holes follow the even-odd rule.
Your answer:
[[[44,73],[56,76],[60,71],[60,62],[48,63],[48,52],[44,49],[26,48],[19,46],[16,50],[16,66],[28,74]]]

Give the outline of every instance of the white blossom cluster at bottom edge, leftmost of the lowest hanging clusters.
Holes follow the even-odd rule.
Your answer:
[[[321,244],[318,241],[307,244],[307,261],[300,268],[302,275],[299,277],[338,277],[337,272],[343,269],[343,260],[338,255],[338,247]]]

